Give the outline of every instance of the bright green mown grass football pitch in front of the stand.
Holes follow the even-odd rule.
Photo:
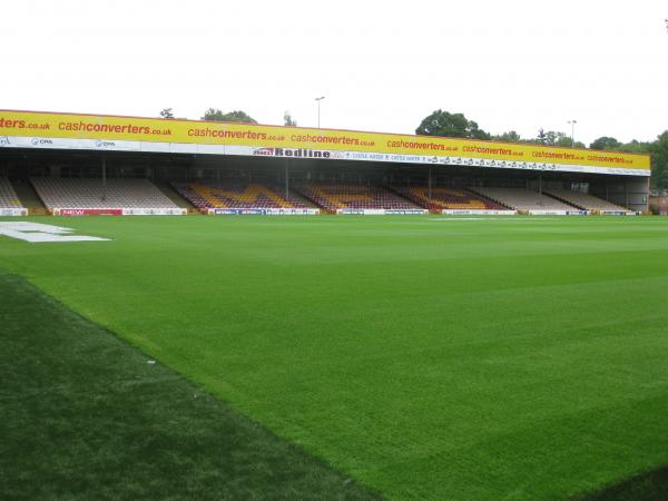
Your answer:
[[[110,240],[0,235],[0,272],[385,498],[668,463],[668,218],[21,220]]]

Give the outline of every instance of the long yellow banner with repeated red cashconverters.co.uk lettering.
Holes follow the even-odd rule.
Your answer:
[[[391,154],[646,171],[650,168],[648,155],[616,151],[432,136],[39,111],[0,110],[0,139],[2,137],[245,146],[266,148],[272,154],[278,151],[276,156],[288,157],[328,157],[322,151],[362,151],[371,154],[370,159],[373,159],[373,154]],[[9,143],[8,139],[6,141]],[[312,155],[310,150],[321,151],[321,155]]]

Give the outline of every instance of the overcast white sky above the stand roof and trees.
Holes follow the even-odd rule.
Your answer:
[[[2,0],[0,109],[591,143],[668,129],[668,1]]]

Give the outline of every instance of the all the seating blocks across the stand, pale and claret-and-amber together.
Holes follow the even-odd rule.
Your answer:
[[[32,178],[47,208],[175,208],[158,187],[146,179]],[[454,189],[425,186],[380,187],[353,184],[304,184],[285,197],[283,187],[265,184],[180,183],[174,188],[198,209],[312,208],[499,210],[626,210],[592,195],[549,189],[542,195],[521,188]],[[431,197],[430,197],[431,195]],[[0,208],[21,208],[12,185],[0,179]]]

